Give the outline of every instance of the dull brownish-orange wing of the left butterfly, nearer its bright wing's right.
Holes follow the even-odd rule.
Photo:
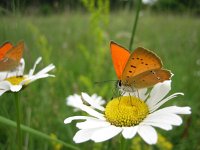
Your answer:
[[[0,60],[0,71],[12,70],[20,63],[24,51],[24,42],[19,42],[17,46],[7,51]]]

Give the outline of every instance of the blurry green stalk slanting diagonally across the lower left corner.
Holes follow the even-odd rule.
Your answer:
[[[15,127],[15,128],[17,127],[16,122],[14,122],[14,121],[12,121],[12,120],[10,120],[10,119],[7,119],[7,118],[5,118],[5,117],[2,117],[2,116],[0,116],[0,123],[9,125],[9,126]],[[67,147],[67,148],[74,149],[74,150],[80,150],[78,147],[75,147],[75,146],[73,146],[73,145],[67,144],[67,143],[63,142],[62,140],[54,139],[54,138],[52,138],[51,136],[49,136],[49,135],[47,135],[47,134],[45,134],[45,133],[42,133],[42,132],[40,132],[40,131],[37,131],[37,130],[35,130],[35,129],[32,129],[32,128],[28,127],[28,126],[25,126],[25,125],[22,125],[22,124],[21,124],[21,129],[22,129],[23,131],[29,132],[29,133],[31,133],[31,134],[33,134],[33,135],[36,135],[36,136],[38,136],[38,137],[40,137],[40,138],[46,139],[46,140],[48,140],[48,141],[50,141],[50,142],[55,141],[55,142],[57,142],[57,143],[62,144],[63,146],[65,146],[65,147]]]

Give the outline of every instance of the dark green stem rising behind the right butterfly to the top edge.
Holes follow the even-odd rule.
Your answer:
[[[137,10],[136,10],[136,15],[135,15],[135,21],[134,21],[134,24],[133,24],[131,40],[130,40],[130,45],[129,45],[129,50],[131,50],[132,46],[133,46],[133,41],[134,41],[134,37],[135,37],[136,27],[137,27],[137,24],[138,24],[138,17],[139,17],[139,13],[140,13],[141,4],[142,4],[142,0],[138,0]]]

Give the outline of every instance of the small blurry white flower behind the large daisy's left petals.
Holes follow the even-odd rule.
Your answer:
[[[82,98],[94,101],[95,104],[100,105],[100,106],[102,106],[102,105],[104,105],[106,103],[106,101],[103,100],[102,97],[98,96],[97,94],[92,94],[92,96],[90,97],[89,95],[83,93],[82,97],[80,95],[78,95],[78,94],[74,94],[74,95],[68,96],[66,98],[66,104],[68,106],[74,107],[74,111],[78,111],[78,110],[80,110],[80,108],[79,108],[80,105],[83,105]]]

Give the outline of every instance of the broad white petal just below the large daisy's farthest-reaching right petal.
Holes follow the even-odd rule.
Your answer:
[[[182,119],[180,116],[172,113],[152,113],[145,119],[148,122],[165,123],[170,125],[181,125]]]

